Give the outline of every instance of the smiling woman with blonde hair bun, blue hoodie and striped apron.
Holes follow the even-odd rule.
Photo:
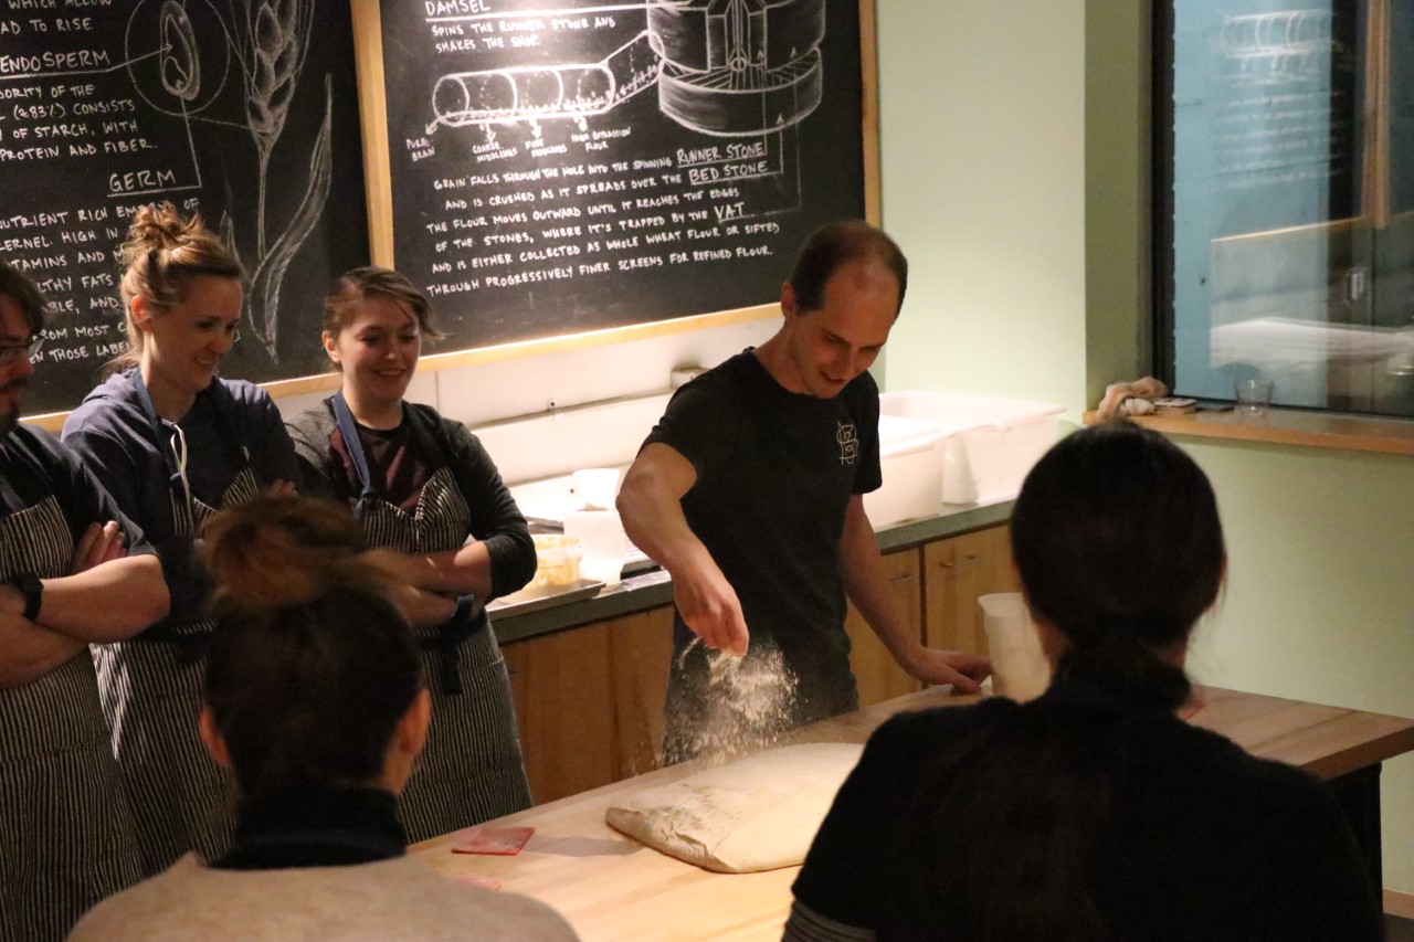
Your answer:
[[[167,618],[95,648],[113,754],[147,874],[187,850],[208,859],[233,823],[229,775],[195,735],[209,583],[195,560],[216,512],[290,489],[294,447],[260,388],[216,375],[243,304],[232,252],[171,204],[144,207],[123,245],[129,351],[64,423],[64,441],[147,533],[171,593]]]

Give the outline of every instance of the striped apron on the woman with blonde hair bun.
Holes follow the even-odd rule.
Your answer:
[[[147,399],[146,389],[141,396]],[[161,441],[164,429],[156,412],[148,420]],[[177,437],[173,451],[185,450],[180,441]],[[198,536],[218,509],[239,506],[260,492],[247,467],[226,487],[219,508],[208,506],[191,494],[182,461],[184,455],[177,455],[171,479],[177,536]],[[103,714],[137,818],[146,876],[165,870],[188,850],[219,859],[235,830],[235,778],[211,758],[197,733],[205,702],[202,655],[214,627],[214,620],[164,624],[132,641],[93,648]]]

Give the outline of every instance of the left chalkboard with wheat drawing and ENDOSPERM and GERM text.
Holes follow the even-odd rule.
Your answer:
[[[199,211],[249,274],[222,372],[324,368],[321,298],[366,263],[346,0],[24,0],[0,10],[0,257],[52,303],[25,413],[72,409],[124,349],[137,207]]]

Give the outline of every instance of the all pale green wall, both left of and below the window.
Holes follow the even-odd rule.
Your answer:
[[[880,0],[884,223],[912,263],[887,389],[1094,406],[1148,368],[1148,20],[1134,0]],[[1230,578],[1203,682],[1414,716],[1414,463],[1188,440]],[[1414,755],[1384,884],[1414,892]]]

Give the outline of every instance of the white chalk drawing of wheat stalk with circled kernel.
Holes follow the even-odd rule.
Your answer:
[[[250,133],[257,164],[253,242],[245,243],[246,270],[255,260],[246,318],[279,362],[280,286],[296,252],[308,239],[332,180],[329,126],[334,110],[331,76],[324,76],[324,116],[308,154],[308,185],[271,243],[266,223],[266,182],[276,144],[291,117],[294,92],[315,30],[314,0],[232,0],[229,13],[208,0],[137,0],[127,20],[127,74],[137,95],[163,115],[191,124],[206,123]],[[236,69],[232,69],[235,59]],[[233,72],[236,72],[233,75]],[[312,116],[297,116],[307,122]],[[281,157],[297,167],[298,156]],[[199,190],[201,165],[192,144],[195,181],[173,190]],[[222,214],[222,239],[242,256],[242,239],[229,209]],[[252,235],[246,235],[249,240]],[[253,248],[253,252],[252,252]]]

